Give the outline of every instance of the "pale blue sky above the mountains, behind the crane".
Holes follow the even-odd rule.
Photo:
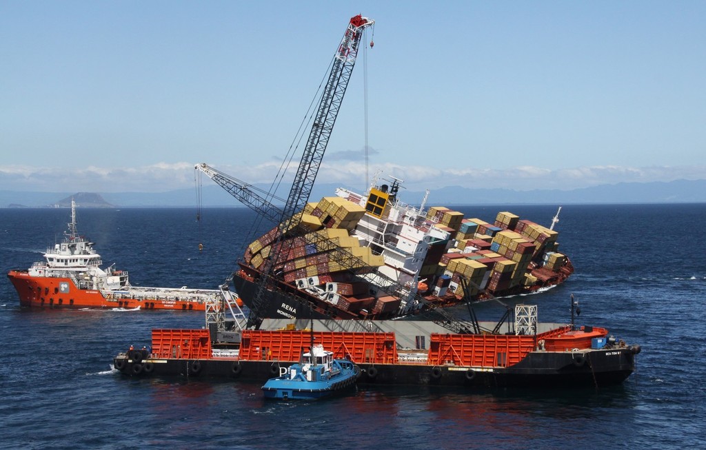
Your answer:
[[[0,190],[270,183],[359,13],[319,183],[706,179],[706,2],[436,3],[1,1]]]

